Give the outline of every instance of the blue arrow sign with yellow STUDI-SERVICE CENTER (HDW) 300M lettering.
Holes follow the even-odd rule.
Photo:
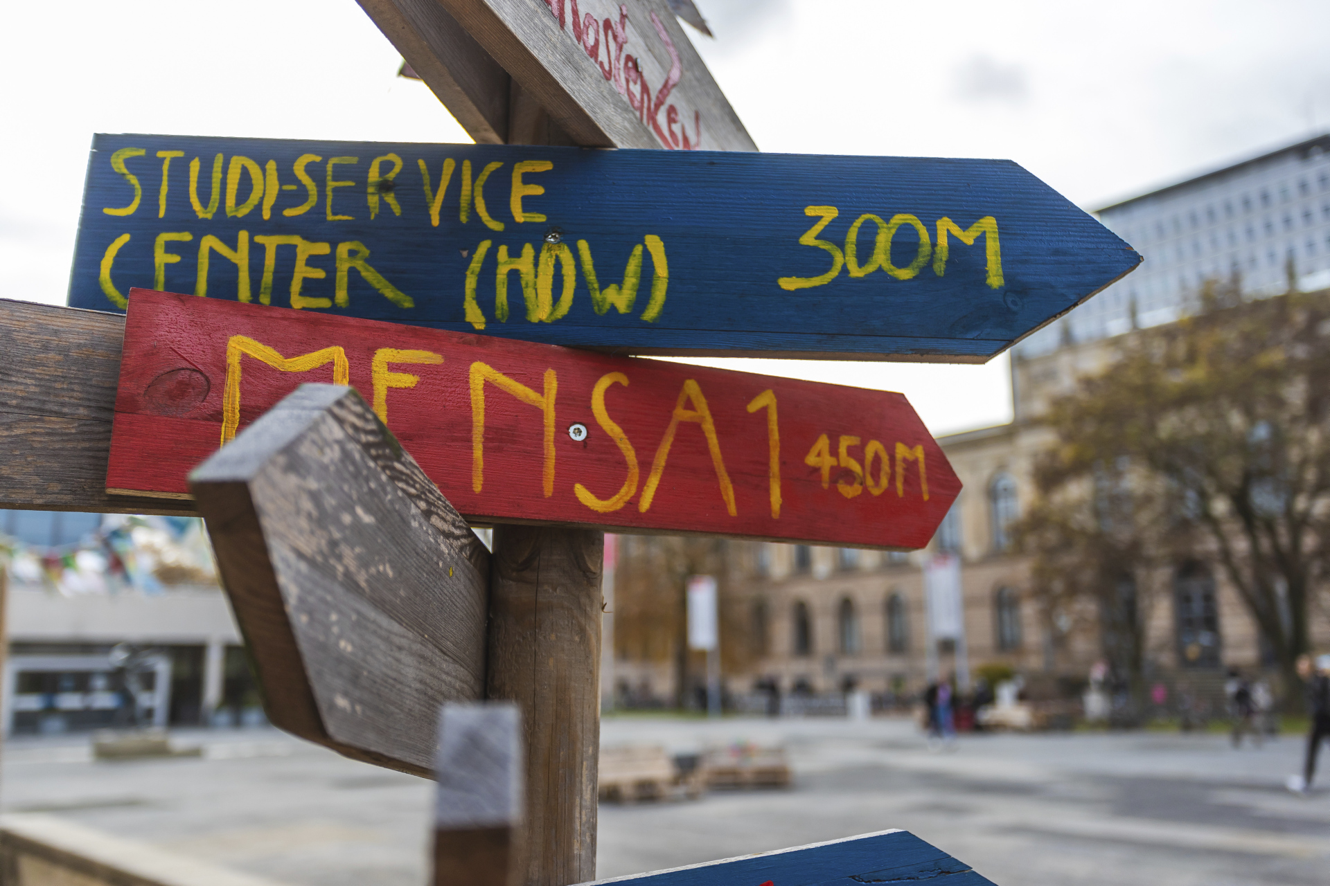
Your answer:
[[[1009,161],[97,135],[69,304],[982,363],[1138,262]]]

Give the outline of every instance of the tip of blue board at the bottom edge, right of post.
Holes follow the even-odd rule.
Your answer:
[[[907,830],[883,830],[826,843],[596,881],[625,886],[872,886],[918,883],[992,886],[970,865]]]

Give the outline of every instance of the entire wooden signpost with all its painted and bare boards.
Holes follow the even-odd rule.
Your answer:
[[[0,503],[197,503],[270,716],[342,753],[426,772],[432,705],[516,703],[520,743],[452,723],[525,820],[440,817],[436,874],[591,881],[600,529],[907,549],[959,491],[898,395],[621,355],[982,363],[1140,256],[1004,161],[717,153],[662,0],[360,4],[484,143],[97,137],[70,304],[193,295],[134,296],[124,361],[121,317],[0,303]],[[938,877],[987,882],[903,832],[628,879]]]

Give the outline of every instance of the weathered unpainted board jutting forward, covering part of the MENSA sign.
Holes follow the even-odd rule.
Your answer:
[[[483,697],[485,579],[362,446],[367,426],[378,420],[354,391],[305,385],[193,472],[190,490],[269,717],[423,774],[439,705]],[[398,470],[424,486],[396,449]]]

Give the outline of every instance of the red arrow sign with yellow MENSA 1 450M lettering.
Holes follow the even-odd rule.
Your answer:
[[[146,290],[106,486],[185,497],[227,401],[339,373],[477,523],[916,549],[960,491],[899,393]]]

